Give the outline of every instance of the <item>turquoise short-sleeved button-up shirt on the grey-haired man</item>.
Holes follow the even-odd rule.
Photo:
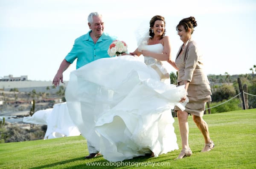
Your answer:
[[[78,37],[75,40],[73,48],[65,57],[69,63],[76,61],[76,69],[86,65],[94,60],[110,57],[108,55],[108,48],[110,44],[116,40],[116,37],[110,36],[103,32],[98,41],[94,44],[90,37],[90,31],[87,34]]]

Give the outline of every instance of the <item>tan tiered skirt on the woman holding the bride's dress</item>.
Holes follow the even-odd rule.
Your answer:
[[[184,81],[179,82],[177,86],[181,85],[184,85]],[[205,104],[212,100],[210,95],[212,92],[209,84],[189,84],[187,95],[189,103],[186,104],[184,111],[199,117],[204,116]],[[175,106],[174,110],[180,109]]]

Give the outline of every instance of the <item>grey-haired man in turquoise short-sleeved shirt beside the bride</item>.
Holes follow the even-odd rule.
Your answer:
[[[104,33],[104,22],[102,14],[92,12],[88,16],[88,26],[90,31],[87,34],[78,37],[75,40],[73,48],[61,62],[59,69],[52,81],[54,86],[63,83],[63,72],[76,61],[76,69],[86,65],[94,60],[110,57],[108,55],[108,48],[116,37]],[[87,147],[90,155],[85,158],[94,158],[99,152],[92,146],[90,140],[87,140]]]

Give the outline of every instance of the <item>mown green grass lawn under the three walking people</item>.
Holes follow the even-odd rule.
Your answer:
[[[102,156],[85,160],[88,155],[84,137],[63,137],[49,140],[0,144],[0,169],[255,169],[256,109],[205,115],[215,143],[210,152],[201,153],[204,139],[189,116],[189,158],[173,160],[180,150],[157,158],[138,157],[111,163]],[[177,118],[177,142],[181,147]],[[94,166],[93,166],[94,165]],[[117,167],[119,165],[119,167]],[[120,166],[121,165],[121,166]],[[154,166],[153,166],[154,165]]]

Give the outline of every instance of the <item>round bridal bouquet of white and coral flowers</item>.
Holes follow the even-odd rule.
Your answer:
[[[115,55],[121,56],[124,52],[127,52],[127,44],[121,40],[114,40],[108,48],[108,55],[110,57]]]

